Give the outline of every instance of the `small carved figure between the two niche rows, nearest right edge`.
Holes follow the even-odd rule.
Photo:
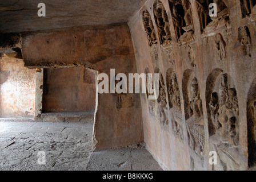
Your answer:
[[[245,55],[251,56],[251,35],[248,27],[239,27],[238,39],[242,44],[243,53]]]

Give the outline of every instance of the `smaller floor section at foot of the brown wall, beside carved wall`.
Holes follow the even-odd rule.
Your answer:
[[[87,171],[162,171],[145,147],[93,152]]]

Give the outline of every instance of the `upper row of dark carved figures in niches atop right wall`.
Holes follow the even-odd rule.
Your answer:
[[[201,25],[201,33],[209,32],[219,21],[229,22],[229,3],[227,0],[192,0],[198,12],[198,19]],[[194,39],[194,23],[189,0],[168,0],[171,12],[171,19],[175,30],[175,36],[179,43],[187,43]],[[217,17],[210,16],[211,3],[217,4]],[[254,0],[240,0],[242,18],[256,13],[256,2]],[[165,47],[170,44],[171,31],[169,18],[167,16],[163,3],[159,0],[153,4],[153,14],[157,26],[155,32],[153,20],[149,11],[144,10],[142,13],[143,26],[145,28],[149,46],[157,44],[157,35],[161,46]]]

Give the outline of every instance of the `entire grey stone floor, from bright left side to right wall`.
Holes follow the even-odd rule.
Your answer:
[[[0,170],[161,170],[143,146],[92,153],[92,131],[93,123],[1,121]]]

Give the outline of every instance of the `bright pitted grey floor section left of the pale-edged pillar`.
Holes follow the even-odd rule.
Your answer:
[[[93,123],[0,122],[0,170],[85,170],[92,131]]]

